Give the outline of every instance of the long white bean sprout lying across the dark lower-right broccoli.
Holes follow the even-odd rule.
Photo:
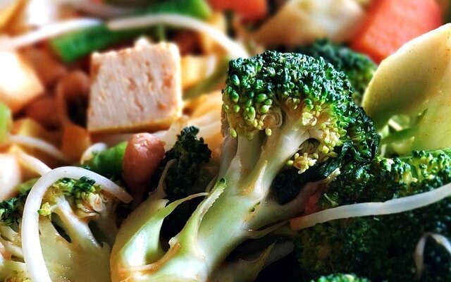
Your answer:
[[[397,214],[428,206],[429,204],[443,200],[445,197],[449,197],[450,195],[451,183],[428,192],[388,200],[386,202],[364,202],[359,204],[347,204],[333,209],[325,209],[321,212],[292,219],[290,223],[292,229],[301,230],[314,226],[317,223],[324,223],[335,219]]]

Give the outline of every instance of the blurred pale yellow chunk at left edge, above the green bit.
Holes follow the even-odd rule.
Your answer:
[[[15,51],[0,51],[0,102],[13,113],[44,92],[35,70]]]

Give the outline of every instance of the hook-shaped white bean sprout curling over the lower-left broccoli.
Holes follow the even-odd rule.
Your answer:
[[[75,166],[62,166],[55,168],[44,174],[30,190],[25,207],[23,209],[22,220],[22,247],[23,257],[27,266],[28,274],[34,282],[51,282],[49,271],[42,255],[41,243],[39,240],[39,214],[37,211],[41,207],[42,198],[47,189],[61,178],[80,179],[82,176],[92,178],[97,185],[109,194],[117,197],[123,202],[130,202],[132,197],[113,181],[85,168]]]

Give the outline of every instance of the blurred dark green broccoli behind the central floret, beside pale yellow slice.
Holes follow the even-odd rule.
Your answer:
[[[354,102],[362,103],[363,94],[377,68],[376,63],[368,56],[352,51],[344,45],[333,44],[327,39],[319,39],[310,45],[298,47],[296,51],[315,58],[322,57],[324,61],[344,72],[354,89]]]

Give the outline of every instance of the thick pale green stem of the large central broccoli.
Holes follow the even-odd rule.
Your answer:
[[[171,248],[163,257],[164,263],[152,274],[152,281],[206,281],[230,251],[249,238],[252,228],[276,223],[290,214],[274,210],[258,216],[260,207],[268,207],[263,203],[271,201],[270,187],[278,171],[310,135],[299,122],[285,123],[273,133],[263,147],[263,133],[252,140],[238,137],[237,153],[223,177],[226,188],[211,207],[206,207],[204,203],[215,197],[211,196],[214,188],[170,241]],[[201,213],[204,216],[196,216]],[[254,224],[257,219],[258,226]]]

